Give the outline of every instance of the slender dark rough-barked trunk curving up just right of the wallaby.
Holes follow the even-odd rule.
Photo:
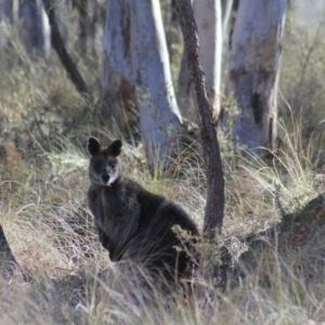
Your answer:
[[[207,206],[204,232],[213,238],[214,229],[222,226],[224,209],[224,181],[217,132],[212,123],[204,72],[199,62],[198,35],[191,0],[177,0],[177,10],[182,28],[185,53],[193,86],[194,102],[199,113],[199,128],[207,177]]]

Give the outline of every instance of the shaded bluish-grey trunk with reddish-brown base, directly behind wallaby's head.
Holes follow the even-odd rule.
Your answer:
[[[127,0],[110,0],[107,4],[101,70],[103,113],[123,129],[125,106],[135,101],[135,77],[131,58],[130,8]]]

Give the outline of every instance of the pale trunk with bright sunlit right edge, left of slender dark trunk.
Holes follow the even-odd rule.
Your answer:
[[[141,134],[147,162],[171,155],[181,115],[171,82],[169,55],[159,2],[127,1],[130,9],[131,56],[136,84]]]

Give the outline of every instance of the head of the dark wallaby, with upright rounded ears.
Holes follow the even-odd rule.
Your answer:
[[[98,139],[89,138],[87,148],[91,155],[89,178],[92,183],[110,186],[121,177],[121,168],[117,158],[121,145],[120,140],[115,140],[107,147],[102,147]]]

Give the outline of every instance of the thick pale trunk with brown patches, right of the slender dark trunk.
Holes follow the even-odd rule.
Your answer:
[[[260,153],[258,147],[275,145],[285,13],[286,0],[239,1],[226,83],[226,94],[233,93],[239,108],[233,125],[236,147]]]

